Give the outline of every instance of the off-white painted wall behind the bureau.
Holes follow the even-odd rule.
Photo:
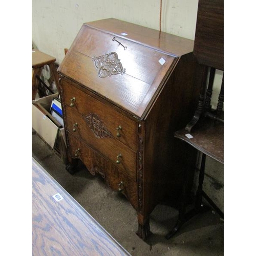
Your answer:
[[[162,0],[162,31],[188,39],[195,38],[198,0]],[[40,51],[60,63],[83,23],[118,18],[159,30],[160,0],[32,0],[32,42]],[[223,72],[217,71],[212,106],[216,108]],[[221,169],[220,165],[217,169]],[[209,176],[223,183],[223,177]],[[207,182],[209,185],[207,185]],[[215,191],[210,179],[206,186],[223,208],[223,190]],[[216,196],[217,195],[217,196]],[[218,197],[220,195],[220,197]]]

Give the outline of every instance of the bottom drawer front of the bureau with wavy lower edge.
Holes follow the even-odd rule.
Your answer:
[[[99,174],[113,190],[123,193],[137,209],[137,183],[124,174],[112,162],[104,158],[87,144],[73,135],[69,135],[69,152],[73,158],[79,158],[93,175]]]

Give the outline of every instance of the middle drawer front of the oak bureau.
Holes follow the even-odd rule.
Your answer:
[[[112,137],[96,138],[90,129],[87,127],[84,127],[83,129],[79,124],[77,126],[77,131],[71,133],[72,137],[75,136],[77,139],[84,141],[95,151],[108,158],[122,172],[136,180],[136,152]],[[72,146],[72,143],[70,143],[69,146]],[[73,148],[72,146],[72,154],[74,154],[74,150],[78,150],[78,148]],[[77,154],[79,154],[79,151]],[[72,157],[74,157],[74,155],[72,155]]]

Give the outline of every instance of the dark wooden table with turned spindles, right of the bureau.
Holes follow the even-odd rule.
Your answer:
[[[193,119],[182,130],[175,132],[175,138],[196,148],[202,156],[195,206],[186,212],[187,186],[189,171],[186,168],[183,179],[183,191],[180,197],[179,217],[175,227],[168,232],[166,239],[174,236],[180,227],[196,214],[208,209],[202,204],[202,198],[224,219],[224,213],[203,190],[206,156],[224,164],[224,76],[220,88],[218,105],[212,109],[211,96],[216,69],[224,71],[224,1],[199,0],[194,55],[200,68],[198,82],[201,84],[198,106]],[[209,76],[208,76],[209,75]]]

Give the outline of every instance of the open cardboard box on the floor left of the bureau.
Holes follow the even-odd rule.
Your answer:
[[[32,101],[32,128],[66,163],[67,145],[65,129],[49,112],[52,99],[57,96],[58,93]]]

